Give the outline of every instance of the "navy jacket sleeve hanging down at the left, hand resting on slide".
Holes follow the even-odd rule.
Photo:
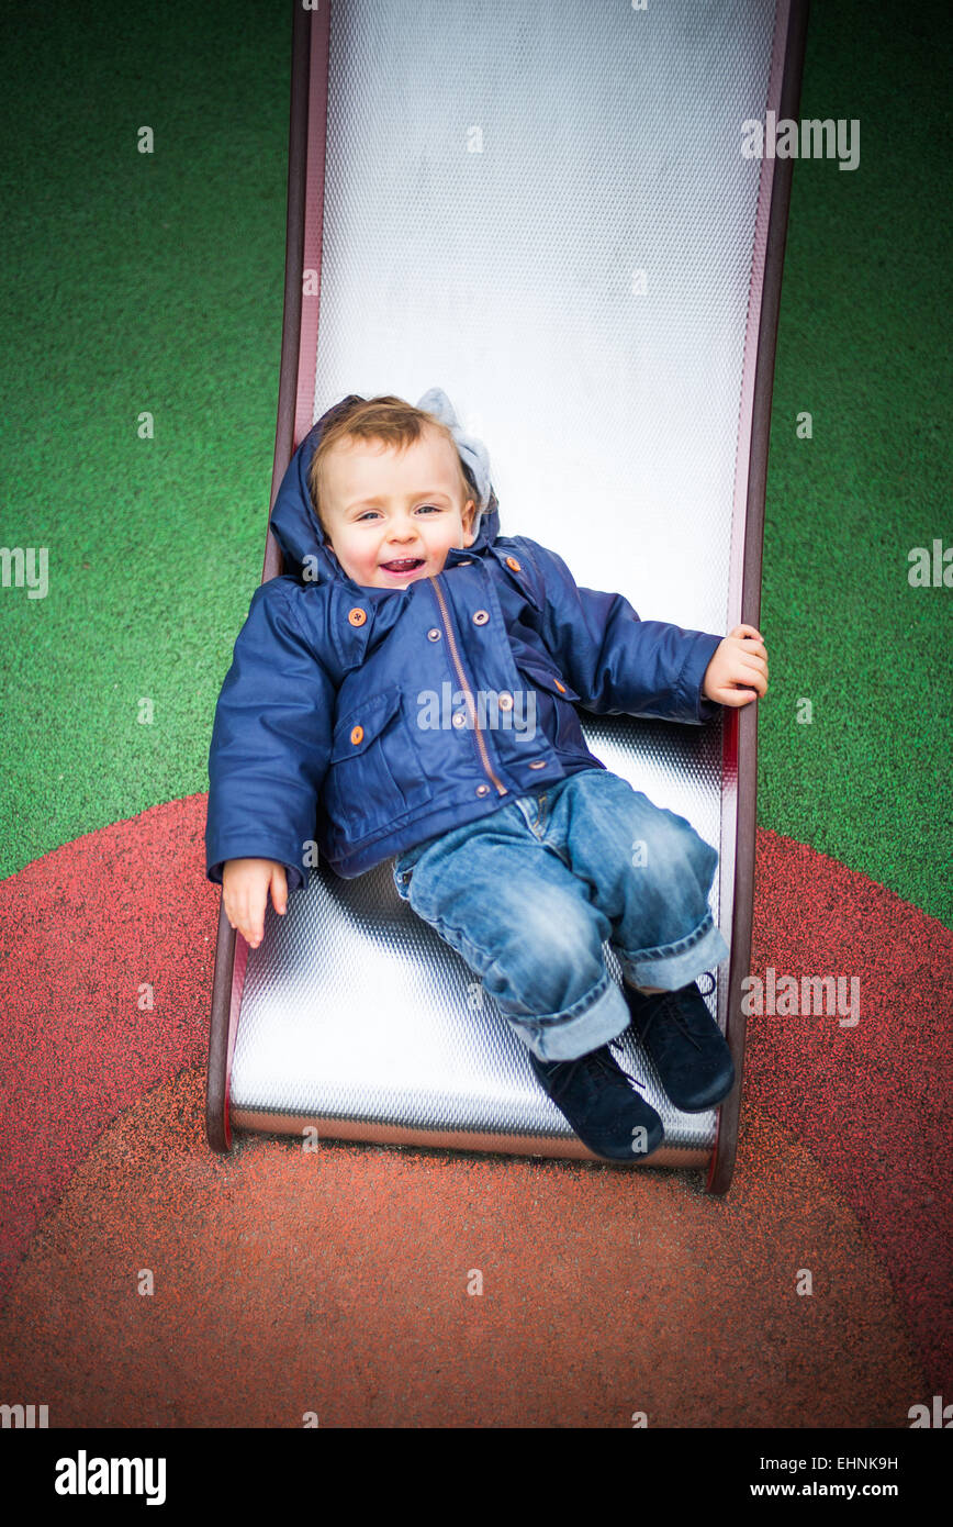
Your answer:
[[[238,632],[209,747],[206,876],[221,884],[232,858],[284,864],[304,884],[327,773],[334,687],[302,635],[287,588],[261,583]]]

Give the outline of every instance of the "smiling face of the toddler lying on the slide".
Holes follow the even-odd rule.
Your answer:
[[[463,496],[460,458],[425,429],[397,450],[342,440],[321,469],[324,533],[362,588],[406,588],[443,571],[451,547],[469,547],[475,504]],[[397,565],[394,565],[397,563]]]

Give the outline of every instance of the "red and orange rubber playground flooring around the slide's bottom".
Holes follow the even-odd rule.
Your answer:
[[[857,976],[860,1019],[748,1020],[724,1200],[406,1147],[217,1157],[203,831],[194,796],[0,883],[3,1388],[50,1426],[907,1428],[953,1390],[941,924],[759,834],[753,973]]]

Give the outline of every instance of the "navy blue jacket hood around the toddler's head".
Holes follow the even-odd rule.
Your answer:
[[[363,403],[357,392],[348,392],[347,397],[328,408],[325,414],[321,415],[316,425],[312,426],[309,434],[304,437],[298,449],[295,450],[292,460],[289,461],[287,472],[281,479],[281,487],[278,489],[278,498],[275,499],[275,507],[272,508],[272,531],[284,553],[284,571],[298,577],[302,583],[327,582],[328,579],[339,579],[345,583],[351,583],[351,579],[345,574],[341,562],[327,544],[324,528],[321,527],[315,508],[312,505],[312,495],[309,492],[309,470],[312,466],[312,458],[321,437],[327,426],[338,418],[338,415],[350,408],[353,403]],[[490,547],[496,536],[499,534],[499,510],[496,504],[496,493],[490,486],[490,496],[487,507],[480,516],[480,524],[476,527],[476,539],[467,553],[481,553]],[[312,560],[305,567],[305,559]],[[357,585],[354,585],[357,586]],[[394,594],[399,589],[362,589],[367,594]]]

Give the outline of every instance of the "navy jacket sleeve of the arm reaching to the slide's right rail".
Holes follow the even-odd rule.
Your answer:
[[[586,710],[696,725],[718,715],[701,684],[721,637],[640,620],[622,594],[579,588],[554,551],[533,542],[531,554],[544,580],[544,640]]]

